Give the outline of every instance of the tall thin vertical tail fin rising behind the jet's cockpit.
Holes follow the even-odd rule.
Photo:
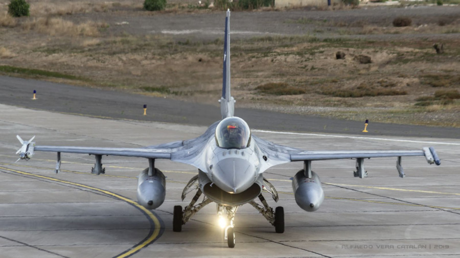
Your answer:
[[[222,97],[220,98],[220,113],[222,119],[232,117],[235,111],[235,99],[230,94],[230,10],[225,17],[224,58],[222,76]]]

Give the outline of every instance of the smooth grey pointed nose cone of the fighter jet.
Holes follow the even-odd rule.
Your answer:
[[[213,182],[228,193],[241,193],[252,186],[255,180],[254,165],[243,159],[224,159],[213,169]]]

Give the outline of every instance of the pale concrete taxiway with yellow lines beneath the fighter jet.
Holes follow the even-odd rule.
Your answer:
[[[219,114],[219,109],[216,108]],[[248,121],[249,126],[252,125]],[[392,257],[460,256],[460,140],[253,131],[259,137],[311,150],[420,149],[433,146],[439,167],[423,157],[364,163],[369,177],[353,177],[353,160],[313,162],[327,196],[315,213],[297,207],[291,180],[302,163],[269,169],[285,209],[284,234],[252,208],[236,216],[236,247],[229,249],[209,204],[172,231],[174,205],[196,169],[166,160],[156,167],[167,176],[166,200],[150,213],[135,205],[136,176],[146,159],[103,157],[105,175],[89,173],[94,157],[37,152],[14,164],[16,134],[37,145],[139,147],[190,139],[204,126],[91,118],[0,105],[0,253],[2,257]]]

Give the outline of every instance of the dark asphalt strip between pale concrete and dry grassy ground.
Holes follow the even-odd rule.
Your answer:
[[[37,100],[32,100],[33,91]],[[216,96],[217,99],[220,96]],[[0,104],[114,119],[171,122],[209,126],[220,119],[220,108],[199,103],[162,97],[148,97],[126,92],[93,89],[0,76]],[[144,116],[143,105],[147,105]],[[256,109],[240,109],[235,115],[251,128],[260,130],[362,134],[369,136],[416,136],[425,138],[460,138],[460,129],[452,127],[417,126],[371,121],[361,133],[364,121],[331,119],[318,116],[294,115]]]

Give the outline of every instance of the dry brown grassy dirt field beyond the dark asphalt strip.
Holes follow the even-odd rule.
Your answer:
[[[223,11],[179,0],[162,12],[139,1],[30,1],[30,17],[10,18],[8,3],[3,74],[218,104]],[[394,27],[397,17],[411,25]],[[235,11],[231,30],[239,107],[460,127],[458,6]],[[268,83],[273,91],[259,87]]]

